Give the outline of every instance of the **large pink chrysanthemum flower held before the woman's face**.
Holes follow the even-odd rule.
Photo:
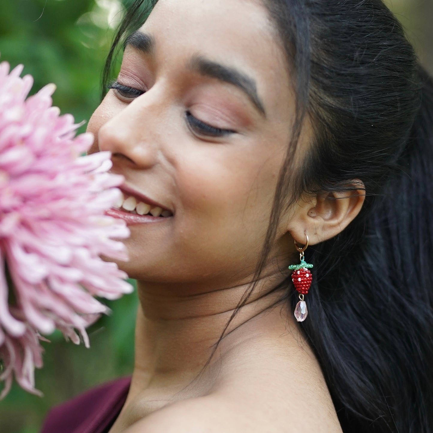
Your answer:
[[[41,334],[56,328],[88,347],[86,326],[132,286],[117,265],[127,260],[124,221],[106,216],[122,176],[110,174],[110,152],[80,156],[91,134],[75,137],[74,118],[52,107],[48,84],[27,98],[33,79],[23,66],[0,63],[0,381],[13,377],[34,394],[42,367]],[[26,99],[27,98],[27,99]]]

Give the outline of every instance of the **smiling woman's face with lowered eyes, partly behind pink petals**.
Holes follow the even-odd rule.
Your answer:
[[[160,0],[129,42],[117,88],[90,120],[91,152],[111,151],[126,186],[172,216],[130,225],[119,265],[190,287],[245,281],[294,118],[274,26],[249,0]],[[273,256],[288,252],[279,231]]]

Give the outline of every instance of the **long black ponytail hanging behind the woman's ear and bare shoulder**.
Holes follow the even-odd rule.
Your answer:
[[[433,81],[420,75],[410,136],[368,213],[309,258],[302,329],[344,432],[433,431]]]

